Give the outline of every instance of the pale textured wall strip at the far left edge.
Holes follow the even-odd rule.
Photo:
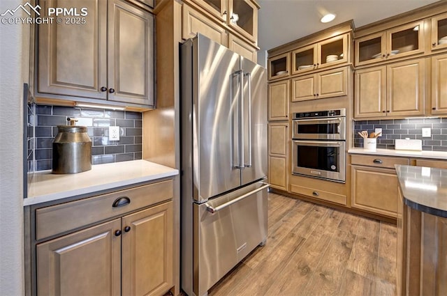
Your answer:
[[[0,14],[20,3],[1,0]],[[22,88],[29,59],[22,38],[27,30],[0,24],[0,294],[14,296],[24,295]]]

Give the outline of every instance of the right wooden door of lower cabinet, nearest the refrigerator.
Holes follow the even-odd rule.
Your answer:
[[[122,229],[122,294],[163,295],[173,286],[173,202],[123,217]]]

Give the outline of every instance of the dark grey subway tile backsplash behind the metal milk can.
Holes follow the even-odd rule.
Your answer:
[[[87,133],[91,139],[92,164],[142,159],[140,112],[36,105],[36,171],[52,169],[52,141],[57,135],[57,125],[68,125],[67,117],[91,120],[91,125],[87,125]],[[119,141],[109,141],[109,126],[119,126]]]

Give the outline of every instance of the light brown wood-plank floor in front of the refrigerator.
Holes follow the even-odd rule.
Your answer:
[[[268,241],[210,296],[395,295],[396,226],[278,194]]]

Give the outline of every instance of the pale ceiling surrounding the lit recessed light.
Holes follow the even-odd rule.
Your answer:
[[[439,0],[258,0],[258,46],[268,50],[342,22],[356,28]],[[443,0],[446,1],[446,0]],[[447,1],[446,1],[447,5]],[[324,11],[332,22],[320,22]]]

